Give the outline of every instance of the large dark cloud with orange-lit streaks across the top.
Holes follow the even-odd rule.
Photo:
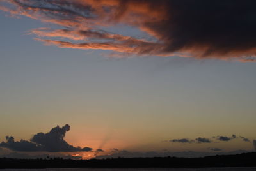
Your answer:
[[[61,48],[248,62],[256,61],[255,5],[253,0],[2,0],[0,10],[62,26],[29,31]],[[116,24],[148,37],[102,30]]]

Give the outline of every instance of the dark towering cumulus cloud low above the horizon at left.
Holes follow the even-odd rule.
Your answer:
[[[30,141],[15,141],[14,137],[6,136],[6,142],[1,142],[0,147],[8,148],[13,151],[47,151],[47,152],[75,152],[92,151],[90,147],[74,147],[69,145],[63,138],[70,126],[65,124],[62,128],[56,126],[49,133],[37,133]]]

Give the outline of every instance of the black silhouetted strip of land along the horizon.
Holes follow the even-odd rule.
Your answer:
[[[108,158],[92,160],[0,158],[0,168],[209,168],[256,167],[256,152],[204,158]]]

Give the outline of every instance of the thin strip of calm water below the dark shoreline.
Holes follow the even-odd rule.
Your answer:
[[[229,167],[229,168],[47,168],[47,169],[4,169],[4,170],[8,170],[8,171],[202,171],[202,170],[206,170],[206,171],[256,171],[256,167]]]

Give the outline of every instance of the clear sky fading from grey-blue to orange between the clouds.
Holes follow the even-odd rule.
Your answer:
[[[256,63],[152,54],[115,58],[111,50],[45,46],[28,34],[52,23],[4,11],[0,22],[0,142],[6,135],[29,140],[69,124],[68,144],[106,152],[253,150]],[[147,35],[122,24],[107,29]],[[227,142],[212,138],[233,134],[237,138]],[[213,142],[168,142],[198,137]]]

